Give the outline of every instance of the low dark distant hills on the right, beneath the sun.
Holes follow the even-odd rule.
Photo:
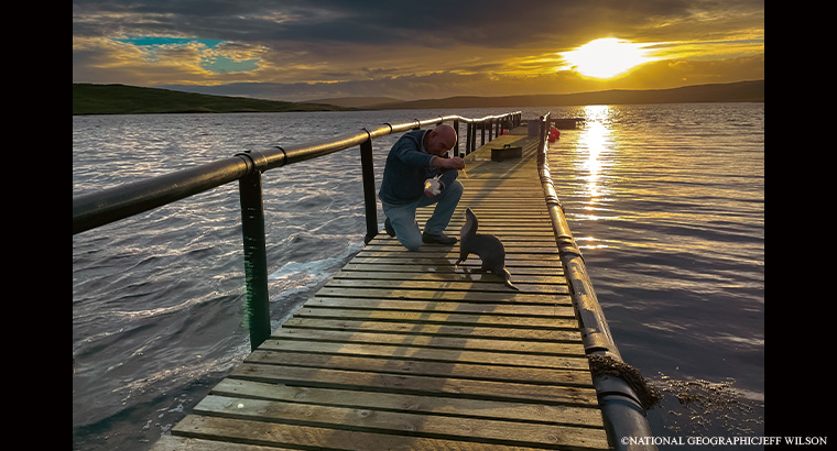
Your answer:
[[[583,105],[627,103],[689,103],[689,102],[763,102],[764,80],[730,84],[695,85],[672,89],[626,90],[596,92],[478,97],[457,96],[444,99],[423,99],[403,102],[368,105],[368,109],[427,108],[520,108]]]

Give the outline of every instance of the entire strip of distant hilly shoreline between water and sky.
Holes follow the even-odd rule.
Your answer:
[[[285,102],[244,97],[210,96],[127,85],[73,84],[73,116],[222,112],[358,111],[449,108],[524,108],[585,105],[764,102],[764,80],[685,86],[672,89],[624,90],[526,96],[457,96],[444,99],[387,101],[366,105],[347,97]],[[373,101],[373,99],[368,99]],[[330,102],[330,103],[326,103]]]

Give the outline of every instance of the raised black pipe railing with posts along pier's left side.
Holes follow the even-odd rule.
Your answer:
[[[241,201],[241,224],[243,235],[244,278],[247,284],[246,315],[250,329],[250,348],[256,350],[270,337],[270,309],[268,295],[268,262],[264,238],[264,211],[262,208],[261,174],[289,164],[328,155],[338,151],[360,146],[368,243],[378,234],[378,205],[374,193],[374,170],[372,164],[372,141],[392,133],[418,130],[427,125],[453,122],[466,123],[465,150],[459,151],[460,138],[454,154],[464,156],[477,148],[477,130],[481,130],[481,143],[486,133],[491,141],[503,129],[520,125],[521,112],[487,116],[469,119],[460,116],[444,116],[401,124],[384,123],[374,130],[367,128],[354,134],[328,140],[289,146],[275,146],[263,152],[242,152],[226,160],[183,169],[145,180],[118,186],[101,191],[73,198],[73,234],[116,222],[144,211],[162,207],[219,186],[239,182]]]

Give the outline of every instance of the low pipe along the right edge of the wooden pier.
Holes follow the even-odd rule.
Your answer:
[[[550,175],[546,161],[546,133],[551,123],[550,113],[541,117],[540,141],[537,147],[537,174],[544,190],[546,207],[558,246],[564,276],[567,279],[573,307],[580,322],[581,341],[588,356],[606,356],[617,363],[623,363],[622,355],[610,334],[605,314],[601,311],[581,251],[575,243],[573,233],[564,217],[564,207],[558,200],[555,186]],[[626,443],[630,438],[652,437],[645,418],[645,409],[640,396],[620,376],[611,374],[593,374],[593,384],[601,407],[605,429],[610,446],[617,450],[656,450],[654,444]]]

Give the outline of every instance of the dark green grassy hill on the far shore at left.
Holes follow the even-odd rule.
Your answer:
[[[74,116],[345,110],[352,109],[313,102],[283,102],[246,97],[209,96],[126,85],[73,84]]]

